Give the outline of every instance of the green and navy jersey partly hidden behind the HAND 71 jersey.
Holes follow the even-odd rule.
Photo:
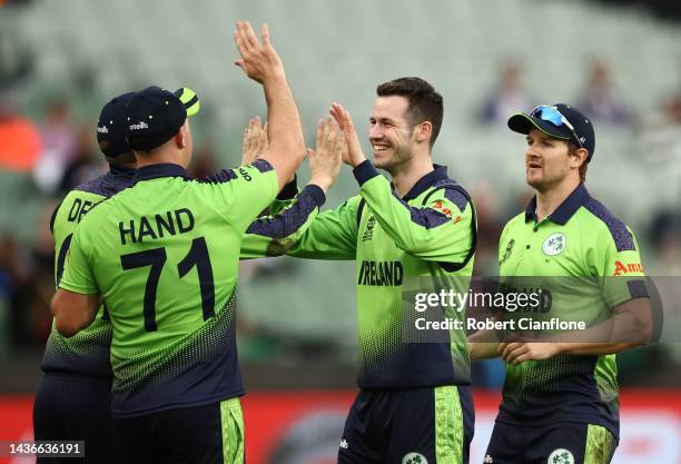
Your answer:
[[[83,215],[98,203],[132,185],[134,169],[111,166],[110,171],[71,190],[52,215],[50,228],[55,235],[55,282],[59,285],[69,244]],[[92,324],[66,338],[52,329],[47,342],[41,368],[46,373],[69,373],[111,378],[109,346],[111,324],[100,308]]]

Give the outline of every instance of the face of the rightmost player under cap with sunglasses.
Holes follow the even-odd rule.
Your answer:
[[[581,159],[570,154],[568,140],[556,139],[539,129],[527,134],[525,174],[527,184],[537,191],[546,191],[576,176]]]

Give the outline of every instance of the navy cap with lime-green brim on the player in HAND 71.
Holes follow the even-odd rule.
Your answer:
[[[189,101],[182,100],[189,96],[186,90],[189,89],[171,92],[151,86],[132,96],[126,112],[130,148],[150,151],[177,135],[187,116],[198,111],[198,97],[195,93],[191,92]]]

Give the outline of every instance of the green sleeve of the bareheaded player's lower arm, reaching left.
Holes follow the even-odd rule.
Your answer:
[[[336,209],[320,213],[286,253],[297,258],[355,259],[361,200],[356,196]]]

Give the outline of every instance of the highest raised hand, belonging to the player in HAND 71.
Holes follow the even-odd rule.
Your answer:
[[[263,43],[258,41],[248,21],[237,21],[234,41],[241,56],[235,65],[244,70],[250,79],[265,83],[272,78],[284,78],[284,65],[269,42],[269,29],[261,28]]]

